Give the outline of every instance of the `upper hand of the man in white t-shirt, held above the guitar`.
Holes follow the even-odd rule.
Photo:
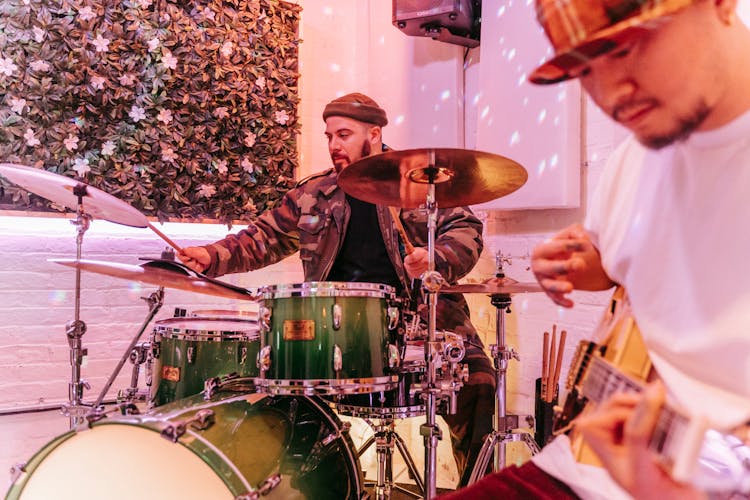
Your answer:
[[[615,283],[602,267],[599,251],[580,224],[563,229],[534,248],[531,269],[545,293],[556,303],[572,307],[565,295],[577,290],[606,290]]]

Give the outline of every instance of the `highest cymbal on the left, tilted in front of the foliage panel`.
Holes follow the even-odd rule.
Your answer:
[[[78,195],[73,190],[81,189],[84,213],[95,219],[125,226],[148,227],[148,219],[136,208],[70,177],[14,163],[0,163],[0,175],[31,193],[71,210],[78,209]]]

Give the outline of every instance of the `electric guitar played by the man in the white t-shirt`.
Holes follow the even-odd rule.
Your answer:
[[[576,349],[566,380],[568,396],[555,415],[553,433],[573,430],[576,459],[598,465],[596,455],[574,431],[573,420],[616,392],[640,392],[657,375],[622,287],[615,290],[594,338],[581,341]],[[706,418],[665,403],[649,447],[677,481],[707,489],[750,490],[750,447],[741,438],[712,430]],[[706,470],[710,473],[704,474]]]

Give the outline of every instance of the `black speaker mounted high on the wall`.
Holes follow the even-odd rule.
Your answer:
[[[393,0],[393,25],[409,36],[476,47],[481,6],[481,0]]]

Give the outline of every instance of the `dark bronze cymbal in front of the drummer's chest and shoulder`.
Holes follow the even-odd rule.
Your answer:
[[[435,184],[438,207],[484,203],[526,183],[526,170],[508,158],[467,149],[386,151],[352,163],[338,184],[355,198],[379,205],[417,208]]]

